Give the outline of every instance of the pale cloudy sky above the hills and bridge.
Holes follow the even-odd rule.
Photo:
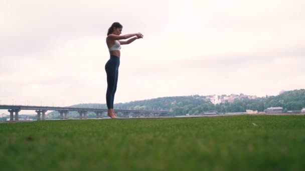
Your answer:
[[[106,103],[105,38],[116,21],[122,34],[144,37],[122,45],[114,103],[305,88],[304,7],[304,0],[1,0],[0,104]]]

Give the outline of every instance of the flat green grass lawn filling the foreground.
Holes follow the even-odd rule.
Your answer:
[[[0,170],[305,170],[305,116],[0,123]]]

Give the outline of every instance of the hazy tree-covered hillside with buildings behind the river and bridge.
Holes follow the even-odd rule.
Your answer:
[[[305,107],[305,89],[284,91],[276,96],[258,97],[255,99],[236,99],[233,102],[213,104],[202,95],[170,96],[159,97],[146,100],[130,101],[126,103],[116,103],[116,109],[141,109],[141,110],[169,110],[169,115],[201,114],[207,111],[218,112],[245,112],[246,109],[264,111],[267,107],[283,107],[285,110],[301,110]],[[107,108],[106,104],[76,104],[73,107],[93,107]],[[58,112],[53,111],[50,115],[58,116]],[[78,117],[77,112],[71,112]],[[54,116],[55,116],[54,115]],[[69,114],[70,115],[70,114]],[[95,115],[94,113],[88,113]]]

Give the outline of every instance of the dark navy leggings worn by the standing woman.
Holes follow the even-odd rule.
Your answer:
[[[105,64],[105,70],[107,73],[106,103],[108,108],[113,108],[119,65],[120,65],[120,58],[114,55],[110,55],[110,59]]]

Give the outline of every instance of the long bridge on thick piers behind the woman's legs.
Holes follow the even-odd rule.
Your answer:
[[[79,113],[80,118],[87,118],[87,112],[93,111],[96,113],[96,118],[102,117],[103,112],[107,112],[107,108],[83,108],[83,107],[52,107],[52,106],[29,106],[29,105],[0,105],[0,109],[8,109],[10,112],[10,120],[14,120],[14,112],[15,112],[15,120],[18,119],[19,112],[21,110],[35,110],[37,112],[37,120],[46,119],[46,112],[48,110],[55,110],[60,113],[60,119],[68,119],[69,111],[77,111]],[[128,117],[129,113],[134,113],[136,116],[145,115],[145,116],[160,116],[161,114],[165,114],[168,111],[162,110],[130,110],[130,109],[115,109],[116,112],[122,112],[124,117]],[[65,114],[65,117],[63,117]],[[83,117],[84,115],[84,117]]]

